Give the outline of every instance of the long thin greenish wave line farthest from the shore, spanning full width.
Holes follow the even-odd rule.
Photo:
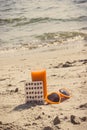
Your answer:
[[[50,17],[38,17],[38,18],[31,18],[28,19],[26,17],[19,17],[19,18],[1,18],[0,25],[4,24],[14,24],[14,26],[22,26],[26,24],[33,24],[33,23],[43,23],[43,22],[68,22],[68,21],[87,21],[87,16],[79,16],[79,17],[71,17],[71,18],[50,18]]]

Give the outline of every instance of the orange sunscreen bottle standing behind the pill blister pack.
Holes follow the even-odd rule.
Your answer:
[[[31,72],[32,81],[43,81],[44,98],[47,95],[46,70]]]

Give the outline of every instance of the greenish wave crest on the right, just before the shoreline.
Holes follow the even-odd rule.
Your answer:
[[[55,33],[44,33],[43,35],[36,36],[42,42],[58,42],[63,43],[69,39],[87,39],[86,33],[81,32],[55,32]]]

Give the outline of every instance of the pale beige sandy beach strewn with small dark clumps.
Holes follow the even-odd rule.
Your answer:
[[[0,130],[87,130],[87,43],[0,52]],[[25,104],[31,71],[46,69],[48,93],[66,87],[60,104]]]

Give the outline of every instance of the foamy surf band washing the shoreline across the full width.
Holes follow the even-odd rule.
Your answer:
[[[55,33],[44,33],[42,35],[35,35],[35,40],[29,42],[18,42],[7,44],[7,41],[0,39],[0,50],[9,49],[35,49],[43,46],[55,46],[65,43],[78,43],[80,41],[87,41],[87,33],[82,32],[55,32]]]

